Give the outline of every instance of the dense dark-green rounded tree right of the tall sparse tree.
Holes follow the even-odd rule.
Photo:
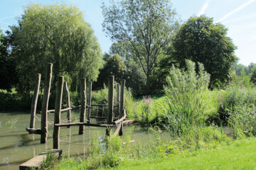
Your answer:
[[[230,67],[238,60],[227,31],[222,24],[213,23],[213,18],[189,18],[174,37],[170,60],[180,67],[185,66],[186,60],[201,62],[210,74],[211,85],[225,83],[229,80]]]

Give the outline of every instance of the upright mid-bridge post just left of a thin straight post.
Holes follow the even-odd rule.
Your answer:
[[[81,79],[81,112],[80,112],[80,123],[85,122],[85,112],[86,112],[86,82],[85,79]],[[85,131],[85,128],[83,125],[79,126],[79,135],[82,135]]]

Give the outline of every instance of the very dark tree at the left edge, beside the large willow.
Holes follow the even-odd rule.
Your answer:
[[[9,55],[8,38],[0,30],[0,89],[11,90],[17,83],[16,62]]]

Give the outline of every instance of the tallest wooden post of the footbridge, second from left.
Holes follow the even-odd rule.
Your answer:
[[[48,63],[47,69],[46,69],[46,81],[44,84],[44,90],[43,90],[43,103],[41,108],[41,143],[46,143],[47,141],[47,132],[48,132],[48,123],[47,123],[47,111],[48,111],[48,102],[49,102],[49,96],[50,96],[50,81],[52,77],[53,72],[53,64]]]

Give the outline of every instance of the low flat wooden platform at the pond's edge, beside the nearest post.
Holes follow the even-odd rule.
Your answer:
[[[24,162],[23,164],[21,164],[19,166],[19,169],[20,170],[39,169],[43,161],[46,159],[46,155],[48,153],[54,154],[55,157],[61,157],[62,149],[46,150],[46,152],[38,154],[36,157],[33,157],[32,159],[29,159],[27,162]]]

